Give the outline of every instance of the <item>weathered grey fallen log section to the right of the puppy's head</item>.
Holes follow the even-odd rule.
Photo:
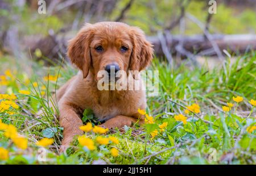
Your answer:
[[[158,36],[148,36],[147,39],[154,45],[155,55],[164,56],[164,52],[161,47],[161,41]],[[179,50],[180,41],[183,40],[183,48],[185,51],[196,54],[196,56],[203,56],[207,54],[208,56],[220,55],[217,53],[216,49],[213,49],[212,43],[214,42],[219,48],[218,52],[224,49],[230,54],[241,54],[251,50],[256,50],[256,35],[250,34],[240,34],[240,35],[221,35],[214,34],[211,35],[210,40],[205,40],[204,35],[194,35],[194,36],[166,36],[166,45],[172,54],[176,54]],[[218,50],[218,49],[217,49]],[[185,56],[185,55],[183,55]]]

